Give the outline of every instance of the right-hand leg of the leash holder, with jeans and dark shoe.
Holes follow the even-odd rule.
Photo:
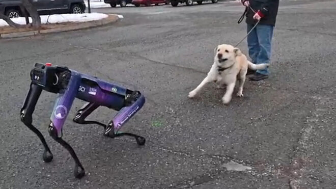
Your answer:
[[[270,63],[271,60],[271,43],[273,36],[272,25],[257,25],[256,27],[260,51],[257,56],[256,64]],[[251,80],[261,80],[267,78],[269,75],[268,68],[257,70],[256,74],[250,77]]]

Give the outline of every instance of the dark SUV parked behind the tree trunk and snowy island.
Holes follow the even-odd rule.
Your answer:
[[[0,13],[10,17],[24,16],[20,10],[21,0],[0,0]],[[33,0],[40,15],[46,14],[81,14],[86,6],[83,0]]]

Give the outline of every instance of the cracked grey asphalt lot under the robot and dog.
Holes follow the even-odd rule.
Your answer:
[[[277,18],[271,75],[247,80],[244,97],[220,102],[205,77],[219,43],[246,34],[244,8],[220,2],[186,7],[93,9],[122,14],[102,28],[0,40],[0,188],[334,188],[336,185],[336,1],[283,1]],[[239,47],[247,54],[246,40]],[[47,125],[56,95],[42,93],[33,119],[54,159],[42,160],[37,136],[20,122],[34,63],[51,62],[116,82],[147,101],[123,128],[147,139],[110,139],[96,125],[64,125],[86,169],[74,161]],[[89,119],[107,123],[101,107]],[[228,170],[227,163],[250,169]]]

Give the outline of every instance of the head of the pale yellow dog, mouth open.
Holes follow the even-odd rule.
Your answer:
[[[241,55],[240,49],[232,45],[221,44],[215,48],[215,62],[221,66],[233,64],[236,57]]]

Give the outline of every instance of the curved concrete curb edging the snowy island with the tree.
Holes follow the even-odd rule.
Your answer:
[[[117,16],[118,18],[115,19],[101,19],[101,20],[94,20],[88,22],[81,22],[78,25],[71,25],[65,28],[55,28],[55,29],[47,29],[47,30],[36,30],[30,32],[17,32],[11,34],[0,34],[0,39],[11,39],[11,38],[20,38],[20,37],[29,37],[29,36],[37,36],[40,34],[51,34],[51,33],[61,33],[61,32],[69,32],[69,31],[76,31],[81,29],[89,29],[94,28],[96,26],[106,25],[109,23],[114,23],[119,21],[120,19],[124,18],[123,15],[118,14],[108,14],[109,16]]]

